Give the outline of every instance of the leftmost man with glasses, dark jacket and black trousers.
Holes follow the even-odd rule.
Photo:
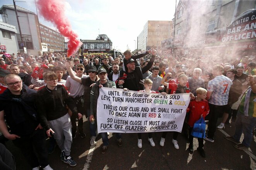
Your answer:
[[[48,163],[45,133],[34,107],[36,91],[22,85],[18,75],[9,74],[4,78],[8,89],[0,95],[0,131],[20,148],[28,163],[34,169],[51,170]],[[4,121],[10,127],[10,133]],[[38,155],[38,158],[37,156]]]

